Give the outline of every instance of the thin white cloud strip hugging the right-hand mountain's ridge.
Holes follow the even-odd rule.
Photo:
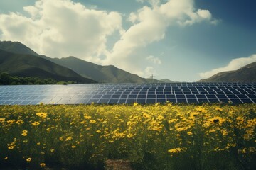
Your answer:
[[[201,78],[206,79],[206,78],[212,77],[214,74],[217,74],[219,72],[227,72],[227,71],[240,69],[241,67],[244,67],[245,65],[250,64],[252,62],[256,62],[256,54],[251,55],[250,57],[242,57],[242,58],[233,59],[225,67],[212,69],[208,72],[200,73],[199,75]]]

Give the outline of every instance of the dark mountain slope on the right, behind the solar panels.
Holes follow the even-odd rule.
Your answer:
[[[256,62],[235,71],[220,72],[199,82],[256,82]]]

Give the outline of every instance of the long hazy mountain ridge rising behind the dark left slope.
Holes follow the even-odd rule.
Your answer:
[[[0,42],[0,49],[9,52],[16,52],[20,54],[30,54],[42,57],[43,59],[50,60],[55,64],[59,64],[63,67],[68,67],[73,71],[80,74],[82,77],[87,77],[88,79],[94,79],[98,82],[104,83],[164,83],[172,82],[168,79],[157,80],[157,79],[145,79],[137,76],[136,74],[131,74],[122,69],[114,67],[113,65],[101,66],[94,64],[92,62],[86,62],[85,60],[80,60],[76,57],[63,57],[50,58],[45,55],[38,55],[36,52],[21,44],[20,42],[10,42],[3,41]]]

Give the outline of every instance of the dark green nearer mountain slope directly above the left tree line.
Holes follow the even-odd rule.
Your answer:
[[[19,77],[52,78],[58,81],[95,82],[81,77],[73,70],[50,62],[35,55],[22,55],[0,50],[0,72],[8,72]]]

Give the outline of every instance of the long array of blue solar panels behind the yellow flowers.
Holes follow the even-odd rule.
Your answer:
[[[71,84],[0,86],[0,105],[256,103],[256,83]]]

